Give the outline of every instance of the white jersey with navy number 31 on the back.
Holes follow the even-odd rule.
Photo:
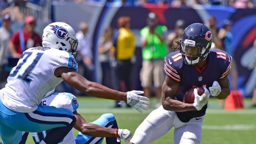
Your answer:
[[[47,47],[27,49],[7,78],[2,103],[17,112],[35,111],[47,92],[63,81],[54,75],[60,66],[78,70],[74,56],[68,52]]]

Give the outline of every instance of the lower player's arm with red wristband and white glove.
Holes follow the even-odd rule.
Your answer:
[[[128,129],[114,129],[99,126],[86,122],[86,120],[77,111],[73,112],[76,117],[76,123],[74,128],[79,130],[82,134],[92,137],[118,137],[124,141],[128,141],[132,138],[132,133]]]

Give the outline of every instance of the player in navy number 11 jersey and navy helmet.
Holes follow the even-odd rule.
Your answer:
[[[180,51],[165,57],[165,81],[162,106],[152,111],[135,130],[127,144],[148,144],[174,127],[175,144],[199,144],[209,96],[225,99],[230,94],[228,73],[232,57],[219,49],[210,49],[212,33],[206,25],[193,23],[180,40]],[[194,89],[194,103],[184,103],[183,96],[193,86],[204,87],[204,94]]]

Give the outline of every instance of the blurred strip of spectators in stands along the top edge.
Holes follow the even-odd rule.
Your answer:
[[[223,5],[230,6],[239,9],[253,8],[256,5],[256,0],[1,0],[0,10],[2,14],[5,12],[10,12],[10,8],[15,7],[15,9],[42,9],[42,7],[47,6],[49,2],[52,1],[68,1],[68,2],[87,2],[87,3],[113,3],[116,5],[123,6],[144,6],[146,4],[156,4],[156,5],[166,5],[173,8],[182,7],[195,7],[197,5]],[[19,11],[19,10],[16,10]],[[17,20],[22,20],[22,13],[17,13]]]

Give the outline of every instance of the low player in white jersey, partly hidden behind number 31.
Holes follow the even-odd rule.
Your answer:
[[[80,133],[74,138],[73,130],[70,130],[59,144],[101,144],[104,139],[103,137],[106,137],[107,144],[120,144],[119,138],[124,139],[124,141],[128,141],[132,138],[132,133],[129,130],[118,129],[116,119],[111,113],[102,114],[100,118],[92,123],[86,122],[86,120],[77,113],[76,110],[79,106],[78,101],[76,97],[70,93],[54,92],[53,94],[49,94],[49,96],[46,95],[40,102],[40,105],[68,108],[73,111],[76,117],[77,122],[74,128],[79,130]],[[46,136],[47,132],[48,130],[39,133],[31,133],[34,142],[39,144]],[[25,144],[25,142],[20,144]]]

